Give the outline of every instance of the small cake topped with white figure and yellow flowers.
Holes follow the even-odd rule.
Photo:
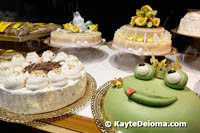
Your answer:
[[[84,22],[79,12],[74,13],[71,23],[63,25],[64,29],[51,32],[51,45],[59,47],[91,47],[102,41],[98,24],[91,21]]]

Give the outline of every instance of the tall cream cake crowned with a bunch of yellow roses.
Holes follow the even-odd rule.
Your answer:
[[[130,24],[119,28],[114,35],[113,47],[136,55],[164,55],[171,51],[171,34],[159,27],[157,11],[150,6],[136,10]]]

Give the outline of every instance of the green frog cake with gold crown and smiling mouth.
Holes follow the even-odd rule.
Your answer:
[[[187,81],[178,59],[167,66],[153,56],[113,81],[103,99],[106,118],[120,133],[200,133],[200,98]]]

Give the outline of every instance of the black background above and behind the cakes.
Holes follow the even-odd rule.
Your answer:
[[[103,37],[111,40],[114,31],[129,23],[136,9],[145,4],[159,11],[161,26],[168,30],[177,27],[180,18],[188,9],[199,8],[198,2],[191,0],[1,0],[0,11],[14,12],[16,16],[0,19],[63,24],[72,20],[73,12],[79,11],[85,21],[92,20],[98,23]]]

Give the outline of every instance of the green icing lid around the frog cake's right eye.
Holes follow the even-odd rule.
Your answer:
[[[167,81],[167,74],[165,74],[165,78],[164,78],[164,81],[165,81],[165,85],[168,86],[168,87],[171,87],[173,89],[177,89],[177,90],[183,90],[187,84],[187,81],[188,81],[188,76],[186,73],[184,73],[183,71],[181,70],[176,70],[176,72],[178,72],[180,75],[181,75],[181,81],[179,81],[178,83],[176,84],[171,84]]]

